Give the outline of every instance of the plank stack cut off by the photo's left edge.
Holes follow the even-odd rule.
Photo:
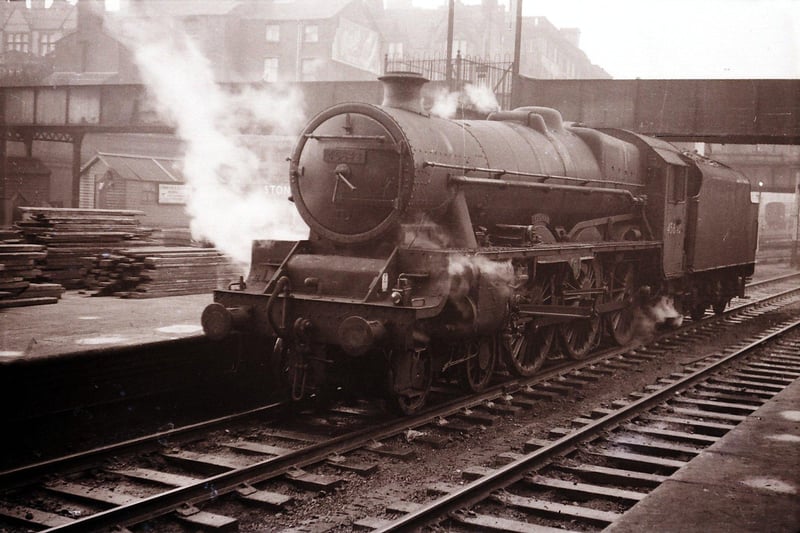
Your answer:
[[[33,282],[41,275],[38,263],[46,256],[42,245],[0,243],[0,309],[58,302],[63,286]]]

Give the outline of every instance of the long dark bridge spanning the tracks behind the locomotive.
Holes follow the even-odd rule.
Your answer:
[[[230,85],[236,90],[244,85]],[[290,84],[311,117],[339,102],[380,103],[374,81]],[[512,106],[559,109],[565,120],[625,128],[672,141],[800,144],[800,80],[515,79]],[[6,145],[73,146],[72,206],[80,196],[81,143],[90,133],[169,133],[143,85],[0,87],[0,210],[6,205]],[[248,133],[270,133],[250,131]],[[0,212],[0,222],[9,218]]]

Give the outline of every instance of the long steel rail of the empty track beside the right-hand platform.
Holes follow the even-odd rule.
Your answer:
[[[475,505],[476,503],[483,501],[488,494],[519,481],[529,471],[543,466],[544,464],[550,462],[554,457],[573,449],[577,444],[597,436],[602,431],[607,431],[608,429],[619,425],[622,421],[630,419],[642,411],[665,402],[667,399],[675,396],[678,391],[686,389],[703,380],[729,362],[739,359],[754,349],[761,347],[773,339],[783,336],[789,331],[798,327],[800,327],[800,320],[796,320],[795,322],[782,327],[778,331],[774,331],[765,335],[764,337],[714,362],[706,368],[697,370],[688,376],[675,381],[674,383],[666,384],[661,390],[643,396],[639,400],[635,400],[617,411],[609,413],[606,416],[581,427],[580,429],[576,429],[574,432],[565,435],[564,437],[554,441],[552,444],[531,452],[526,456],[514,461],[513,463],[510,463],[492,473],[478,478],[477,480],[465,485],[455,492],[423,505],[419,509],[402,516],[391,524],[382,528],[378,528],[375,531],[390,532],[418,530],[419,528],[436,522],[443,515],[449,514],[458,509]]]

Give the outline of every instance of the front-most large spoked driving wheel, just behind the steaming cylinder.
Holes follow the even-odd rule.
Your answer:
[[[552,304],[555,295],[553,276],[535,286],[531,303]],[[555,329],[537,326],[531,319],[512,310],[503,334],[503,358],[508,369],[517,376],[530,377],[539,370],[550,355]]]

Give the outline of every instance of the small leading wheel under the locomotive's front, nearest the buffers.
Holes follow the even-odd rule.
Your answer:
[[[433,363],[426,349],[392,354],[388,371],[388,407],[412,415],[425,405],[433,382]]]

